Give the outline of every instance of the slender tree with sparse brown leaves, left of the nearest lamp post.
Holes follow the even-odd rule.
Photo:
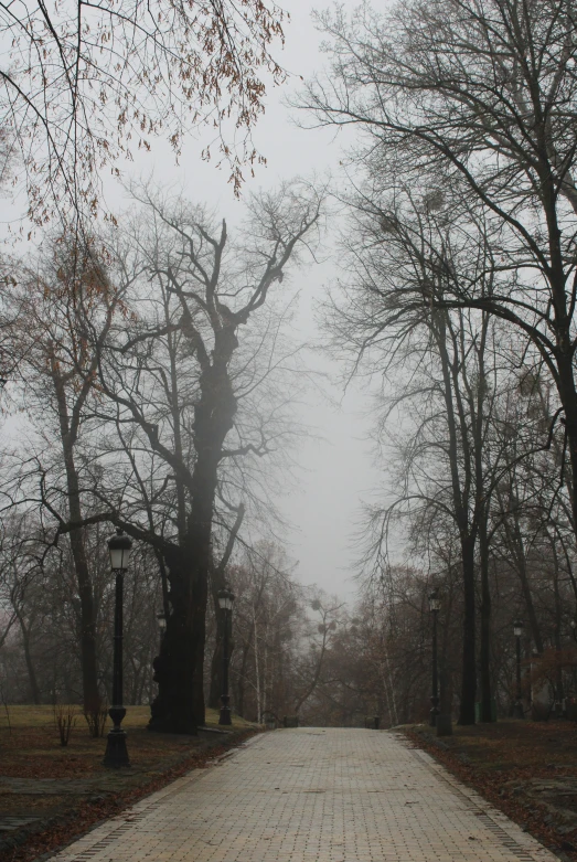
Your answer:
[[[98,350],[109,332],[118,297],[113,296],[104,264],[89,244],[47,240],[39,257],[36,270],[31,265],[24,269],[11,297],[15,309],[10,327],[12,355],[20,356],[25,380],[22,400],[43,438],[36,458],[39,504],[50,520],[78,525],[70,532],[70,541],[79,597],[84,711],[97,715],[101,699],[96,606],[81,525],[85,507],[89,508],[86,486],[93,477],[83,469],[78,448],[99,398],[95,391]],[[31,453],[23,457],[30,467]]]

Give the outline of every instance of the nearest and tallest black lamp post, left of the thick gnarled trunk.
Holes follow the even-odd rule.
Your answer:
[[[120,724],[126,715],[122,705],[122,600],[125,572],[130,562],[131,547],[131,540],[121,530],[117,530],[116,535],[108,540],[110,566],[113,572],[116,572],[113,705],[108,710],[114,726],[108,733],[104,765],[113,767],[130,766],[126,748],[126,731],[122,731]]]

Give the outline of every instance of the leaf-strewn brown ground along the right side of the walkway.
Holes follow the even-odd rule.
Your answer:
[[[507,720],[455,726],[440,738],[423,725],[404,732],[560,859],[577,862],[575,722]]]

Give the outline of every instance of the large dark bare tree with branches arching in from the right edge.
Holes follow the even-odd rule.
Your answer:
[[[495,288],[455,283],[441,305],[484,310],[534,343],[564,414],[574,524],[576,21],[573,0],[415,0],[352,21],[338,10],[319,18],[331,75],[301,102],[362,130],[381,187],[400,172],[416,190],[434,169],[441,194],[460,190],[456,205],[469,199],[493,223]]]

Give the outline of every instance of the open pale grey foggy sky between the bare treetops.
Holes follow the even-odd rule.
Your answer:
[[[247,178],[245,189],[270,188],[295,175],[318,177],[328,171],[341,180],[339,160],[346,142],[342,135],[330,129],[302,130],[284,105],[287,95],[298,88],[300,77],[320,71],[325,62],[319,51],[321,36],[313,28],[311,6],[306,0],[287,0],[285,9],[291,22],[285,28],[285,50],[278,54],[280,64],[290,73],[287,84],[268,92],[266,114],[259,119],[254,140],[266,156],[267,167],[256,167],[255,178]],[[344,3],[353,10],[357,2]],[[227,182],[227,166],[216,168],[216,159],[206,163],[200,153],[210,141],[206,132],[186,142],[179,166],[168,145],[153,143],[151,153],[138,153],[133,163],[119,164],[125,180],[150,178],[164,189],[173,188],[199,203],[209,204],[220,217],[233,224],[242,215],[243,203],[233,194]],[[349,142],[352,138],[349,138]],[[105,205],[111,211],[125,209],[127,195],[114,181],[104,178]],[[328,247],[330,248],[330,237]],[[324,286],[339,274],[334,254],[324,253],[323,262],[298,273],[292,283],[300,290],[297,318],[299,340],[319,341],[313,307],[322,298]],[[327,369],[327,361],[316,358]],[[328,386],[332,401],[342,398],[341,409],[330,406],[329,400],[314,393],[297,416],[310,424],[321,439],[304,443],[296,453],[299,469],[293,490],[278,501],[289,526],[281,533],[288,556],[297,563],[295,574],[306,584],[318,584],[329,593],[351,597],[355,585],[352,538],[360,520],[361,499],[378,485],[378,476],[371,462],[366,441],[370,423],[363,418],[367,400],[354,382],[346,396],[339,389]],[[4,429],[7,430],[7,429]]]

